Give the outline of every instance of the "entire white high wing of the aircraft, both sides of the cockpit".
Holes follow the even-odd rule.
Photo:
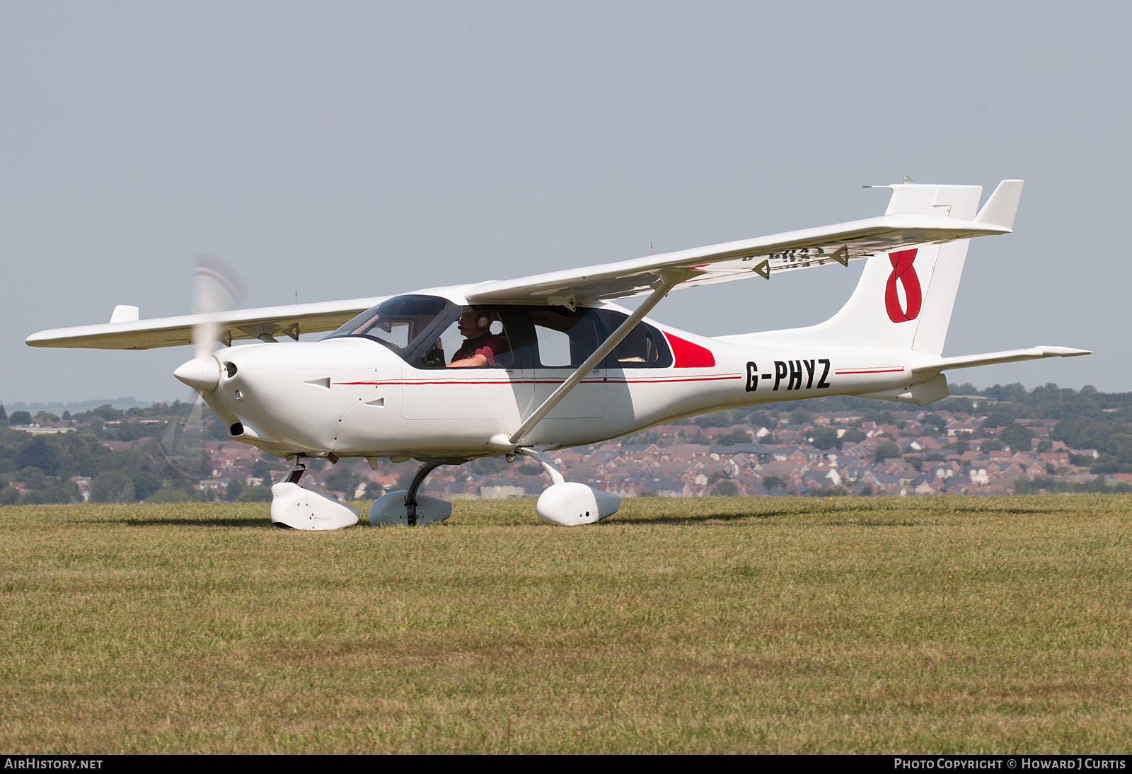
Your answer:
[[[1021,192],[1021,180],[1002,181],[974,221],[923,212],[894,213],[616,264],[483,282],[469,286],[465,298],[471,303],[537,303],[573,309],[578,303],[623,299],[659,286],[706,285],[756,275],[770,278],[775,272],[831,263],[848,266],[850,260],[876,252],[1010,233]],[[217,329],[224,332],[225,344],[265,336],[298,338],[300,333],[334,330],[387,298],[240,309],[207,316],[207,321],[215,322]],[[194,326],[205,320],[206,316],[182,315],[55,328],[32,334],[26,343],[29,346],[105,350],[178,346],[191,344]]]

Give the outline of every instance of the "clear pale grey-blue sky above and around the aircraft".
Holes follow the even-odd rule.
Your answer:
[[[779,6],[778,8],[771,6]],[[1027,180],[971,246],[954,371],[1132,390],[1129,3],[0,5],[0,401],[186,398],[189,349],[37,350],[188,311],[354,298],[835,223],[865,183]],[[706,335],[814,322],[858,269],[674,293]]]

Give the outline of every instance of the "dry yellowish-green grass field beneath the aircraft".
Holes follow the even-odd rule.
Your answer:
[[[8,752],[1129,752],[1132,497],[0,509]]]

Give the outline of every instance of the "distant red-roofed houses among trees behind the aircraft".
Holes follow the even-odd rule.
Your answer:
[[[770,408],[761,412],[761,423],[727,423],[719,416],[700,418],[702,424],[696,419],[686,420],[623,440],[551,452],[550,457],[569,481],[633,498],[1001,494],[1014,492],[1019,481],[1039,488],[1089,481],[1095,476],[1086,465],[1100,456],[1097,449],[1073,449],[1053,440],[1057,421],[1050,419],[1017,420],[1030,432],[1030,439],[1007,448],[1001,438],[1005,425],[988,428],[989,415],[977,413],[928,407],[885,411],[867,421],[865,414],[852,411],[800,414],[806,415],[805,421],[795,423],[784,412]],[[1000,422],[1013,428],[1013,435],[1006,437],[1024,437],[1009,416]],[[131,440],[106,439],[100,441],[102,446],[115,454],[148,455],[162,463],[155,440],[162,431],[153,425],[164,421],[125,418],[105,424],[117,425],[115,437]],[[43,420],[11,429],[58,435],[79,431],[82,425]],[[640,438],[646,442],[634,442]],[[282,461],[247,444],[207,440],[203,450],[206,466],[194,470],[205,475],[194,479],[191,485],[209,497],[266,488],[284,475]],[[358,459],[341,459],[336,465],[310,461],[302,483],[343,499],[372,498],[403,488],[406,474],[415,467],[417,463],[387,459],[378,461],[375,467]],[[1113,480],[1132,482],[1132,473],[1116,473]],[[91,497],[91,478],[70,481],[84,500]],[[541,467],[520,457],[509,465],[500,458],[491,465],[439,467],[422,491],[445,498],[507,499],[537,497],[547,484]],[[24,491],[22,482],[14,480],[12,487]]]

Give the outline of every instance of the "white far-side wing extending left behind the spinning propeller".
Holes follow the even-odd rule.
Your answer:
[[[259,309],[221,312],[213,319],[225,330],[225,343],[240,338],[291,336],[301,333],[334,330],[351,318],[385,301],[387,295],[346,301],[320,301]],[[192,327],[203,315],[157,317],[130,322],[83,325],[75,328],[41,330],[27,337],[28,346],[66,346],[98,350],[149,350],[192,343]],[[226,336],[230,335],[231,339]]]

